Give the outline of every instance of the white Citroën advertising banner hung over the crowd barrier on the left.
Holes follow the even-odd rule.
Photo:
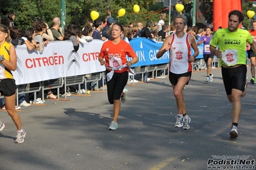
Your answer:
[[[26,45],[16,47],[17,68],[13,73],[16,84],[46,81],[59,77],[84,75],[87,73],[103,72],[98,55],[103,45],[101,40],[80,44],[76,52],[73,43],[49,42],[44,52],[28,50]]]

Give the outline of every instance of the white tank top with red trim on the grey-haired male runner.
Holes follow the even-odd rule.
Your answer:
[[[176,74],[192,71],[191,63],[188,59],[191,57],[191,44],[189,43],[189,34],[185,33],[182,38],[176,34],[172,35],[170,49],[169,71]]]

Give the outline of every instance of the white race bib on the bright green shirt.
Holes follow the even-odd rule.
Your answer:
[[[227,66],[234,66],[238,62],[237,50],[227,49],[221,52],[221,59]]]

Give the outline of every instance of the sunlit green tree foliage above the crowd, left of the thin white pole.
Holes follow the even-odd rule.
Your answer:
[[[0,0],[0,15],[2,19],[7,17],[8,13],[15,13],[15,25],[20,29],[26,29],[31,26],[35,17],[40,17],[49,26],[55,17],[60,17],[60,0]],[[138,4],[141,8],[139,13],[133,12],[133,5]],[[126,0],[73,0],[65,1],[65,12],[67,24],[76,24],[83,27],[87,20],[90,20],[90,12],[95,10],[99,12],[99,19],[103,20],[107,15],[112,15],[118,20],[118,10],[124,8],[126,14],[119,18],[121,24],[129,22],[146,22],[147,20],[158,21],[159,17],[153,10],[162,10],[162,6],[156,8],[153,6],[153,0],[126,1]],[[151,7],[153,6],[153,8]],[[137,15],[137,16],[136,16]],[[135,20],[136,19],[136,20]]]

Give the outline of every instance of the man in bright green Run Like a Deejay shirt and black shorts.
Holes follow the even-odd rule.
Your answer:
[[[241,97],[246,94],[246,42],[250,43],[253,52],[256,52],[256,43],[250,33],[238,28],[243,20],[243,13],[233,10],[228,14],[228,27],[216,31],[210,40],[210,52],[219,58],[226,95],[233,104],[230,130],[230,138],[233,139],[238,136]]]

